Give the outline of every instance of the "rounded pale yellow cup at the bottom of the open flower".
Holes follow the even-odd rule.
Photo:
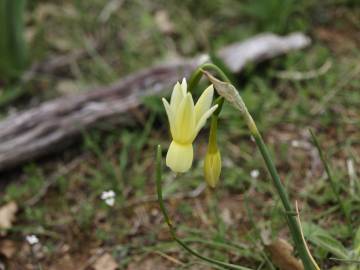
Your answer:
[[[192,144],[179,144],[172,141],[166,154],[166,165],[174,172],[186,172],[191,168],[193,152]]]

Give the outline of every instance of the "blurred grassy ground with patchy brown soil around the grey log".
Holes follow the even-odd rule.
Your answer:
[[[70,58],[64,66],[33,77],[23,86],[25,94],[2,105],[2,115],[259,32],[304,31],[313,39],[308,49],[249,66],[235,77],[236,83],[291,200],[300,204],[304,233],[321,269],[356,269],[356,264],[331,258],[360,258],[354,251],[360,247],[355,239],[360,226],[357,1],[105,2],[32,1],[26,34],[33,62],[77,50],[88,56]],[[2,92],[10,90],[5,85]],[[11,184],[2,188],[0,205],[15,202],[18,207],[16,220],[0,238],[0,260],[9,269],[213,269],[171,240],[158,208],[154,149],[169,144],[160,99],[145,100],[128,120],[122,126],[99,127],[71,149],[1,177]],[[225,105],[219,128],[223,171],[216,196],[203,184],[205,128],[196,141],[191,172],[176,177],[165,171],[171,217],[178,234],[203,254],[253,269],[274,269],[276,259],[266,242],[280,237],[291,243],[278,196],[244,123],[230,106]],[[329,157],[349,222],[309,128]],[[113,206],[101,199],[107,190],[116,193]],[[210,207],[214,203],[218,210]],[[39,243],[30,245],[30,235]]]

